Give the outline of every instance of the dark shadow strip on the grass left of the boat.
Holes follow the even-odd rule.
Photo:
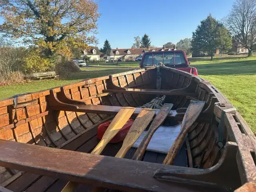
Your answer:
[[[111,75],[115,73],[122,73],[130,71],[132,69],[102,69],[102,70],[82,70],[80,72],[72,73],[70,76],[62,77],[63,80],[83,80],[87,78],[96,78],[106,75]]]

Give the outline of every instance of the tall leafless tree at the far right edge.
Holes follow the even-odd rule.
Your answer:
[[[248,49],[248,56],[256,50],[256,0],[236,0],[224,19],[237,46]]]

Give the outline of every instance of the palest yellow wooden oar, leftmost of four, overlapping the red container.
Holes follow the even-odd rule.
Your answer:
[[[105,146],[110,142],[110,140],[118,133],[118,131],[126,124],[129,118],[132,116],[135,108],[124,107],[116,114],[110,125],[108,126],[106,132],[102,136],[102,139],[98,145],[94,148],[91,154],[100,155]],[[68,182],[61,192],[73,192],[79,183]]]

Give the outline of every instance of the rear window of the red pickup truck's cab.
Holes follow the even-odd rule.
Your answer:
[[[158,66],[162,62],[165,66],[168,65],[185,65],[186,61],[182,53],[152,53],[146,54],[143,60],[143,66]]]

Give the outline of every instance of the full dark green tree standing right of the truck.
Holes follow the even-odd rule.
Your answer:
[[[232,37],[228,29],[211,15],[202,20],[196,31],[192,33],[193,52],[207,52],[211,55],[211,60],[217,49],[222,46],[229,49],[231,45]]]

